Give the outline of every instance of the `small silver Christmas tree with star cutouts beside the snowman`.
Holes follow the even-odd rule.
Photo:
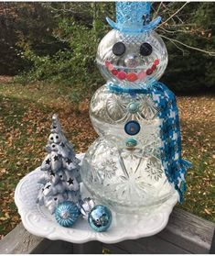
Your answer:
[[[51,214],[63,201],[78,203],[80,193],[80,160],[75,157],[72,145],[64,136],[56,114],[52,117],[51,134],[46,146],[47,157],[40,166],[41,184],[37,203],[47,206]]]

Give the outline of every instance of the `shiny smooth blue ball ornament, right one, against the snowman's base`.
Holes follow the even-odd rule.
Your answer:
[[[88,222],[96,232],[106,231],[112,224],[112,212],[106,206],[94,206],[88,217]]]

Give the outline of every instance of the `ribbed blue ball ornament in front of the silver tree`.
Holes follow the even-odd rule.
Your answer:
[[[78,206],[71,201],[60,203],[55,210],[55,218],[59,225],[66,228],[72,227],[80,215]]]

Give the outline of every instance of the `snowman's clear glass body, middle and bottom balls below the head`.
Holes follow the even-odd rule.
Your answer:
[[[115,211],[147,212],[173,193],[160,159],[157,111],[149,95],[117,95],[106,85],[91,99],[91,123],[100,138],[86,153],[81,177]],[[130,121],[140,125],[135,135],[126,132]]]

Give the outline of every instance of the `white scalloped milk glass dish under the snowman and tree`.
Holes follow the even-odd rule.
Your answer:
[[[82,159],[83,154],[78,155]],[[16,186],[15,203],[21,216],[24,227],[28,232],[47,239],[61,239],[72,243],[84,243],[98,240],[103,243],[116,243],[124,239],[139,239],[153,236],[166,227],[168,217],[177,204],[177,193],[161,206],[157,206],[153,213],[142,215],[117,214],[113,211],[113,224],[105,232],[93,231],[88,222],[80,218],[73,228],[63,228],[56,222],[46,207],[36,204],[39,186],[37,181],[40,171],[28,173]],[[91,196],[81,184],[82,197]],[[96,203],[100,203],[97,201]]]

